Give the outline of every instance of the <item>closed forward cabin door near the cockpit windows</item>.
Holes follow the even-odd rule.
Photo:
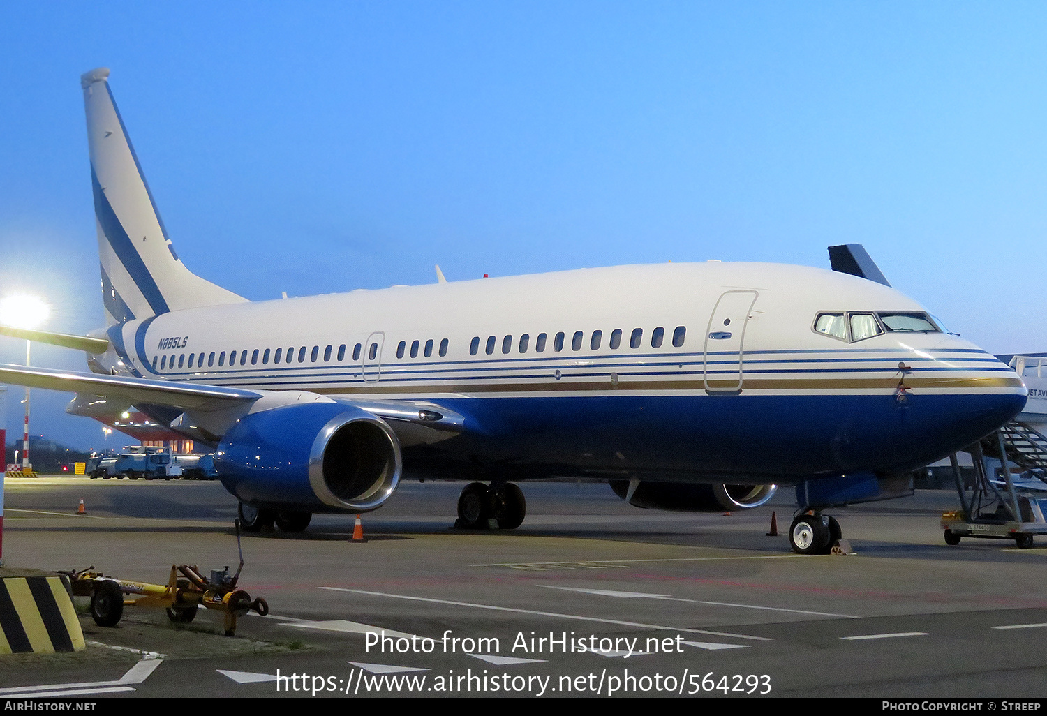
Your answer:
[[[706,329],[706,393],[741,393],[742,342],[756,291],[727,291],[716,301]]]

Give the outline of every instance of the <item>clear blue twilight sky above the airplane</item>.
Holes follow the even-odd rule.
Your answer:
[[[1042,2],[0,0],[0,293],[102,325],[107,66],[179,254],[249,298],[862,243],[953,331],[1043,351],[1045,37]],[[99,446],[69,397],[34,431]]]

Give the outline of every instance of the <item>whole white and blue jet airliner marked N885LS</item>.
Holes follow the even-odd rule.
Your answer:
[[[859,246],[830,249],[836,271],[616,266],[246,300],[178,259],[108,76],[82,77],[108,328],[31,336],[91,373],[0,381],[75,393],[77,415],[133,404],[210,446],[245,529],[374,510],[402,475],[468,480],[459,523],[509,529],[527,479],[683,511],[786,484],[793,547],[823,553],[840,527],[821,508],[898,494],[1025,404],[1013,371]]]

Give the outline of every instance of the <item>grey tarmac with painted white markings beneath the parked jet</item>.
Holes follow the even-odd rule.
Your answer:
[[[232,637],[203,610],[173,625],[128,607],[103,628],[79,600],[87,649],[0,657],[0,697],[1047,697],[1047,541],[945,545],[953,492],[828,511],[856,554],[799,556],[788,489],[725,515],[524,483],[524,524],[474,532],[450,529],[462,487],[402,484],[363,515],[365,543],[353,516],[244,535],[240,585],[270,613]],[[237,567],[218,483],[42,476],[5,494],[9,568]]]

